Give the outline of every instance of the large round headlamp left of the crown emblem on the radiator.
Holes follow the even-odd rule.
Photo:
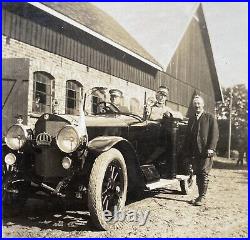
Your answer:
[[[22,124],[15,124],[7,131],[5,142],[12,150],[21,149],[28,139],[28,131]]]

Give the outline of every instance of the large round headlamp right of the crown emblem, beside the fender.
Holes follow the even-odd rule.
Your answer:
[[[67,125],[56,136],[59,149],[65,153],[74,152],[81,144],[81,136],[76,127]]]

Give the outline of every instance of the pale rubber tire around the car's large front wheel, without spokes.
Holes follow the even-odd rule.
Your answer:
[[[101,230],[112,230],[120,227],[120,223],[118,222],[117,224],[110,224],[105,221],[101,199],[102,183],[105,172],[109,164],[114,160],[117,160],[119,162],[124,176],[124,191],[122,193],[119,209],[120,211],[122,211],[125,207],[127,198],[128,176],[126,163],[120,151],[115,148],[111,148],[107,152],[100,154],[95,159],[89,179],[88,208],[90,217],[93,224]]]

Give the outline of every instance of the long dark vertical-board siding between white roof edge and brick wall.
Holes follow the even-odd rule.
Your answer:
[[[3,9],[4,35],[155,89],[157,70],[149,65],[53,16],[46,13],[35,15],[32,6],[19,4],[18,9],[9,5],[6,8]]]

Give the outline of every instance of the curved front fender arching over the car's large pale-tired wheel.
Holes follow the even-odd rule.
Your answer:
[[[116,148],[124,157],[128,172],[128,192],[145,188],[145,181],[140,163],[133,145],[125,138],[117,136],[100,136],[88,143],[88,151],[97,157],[111,148]]]

